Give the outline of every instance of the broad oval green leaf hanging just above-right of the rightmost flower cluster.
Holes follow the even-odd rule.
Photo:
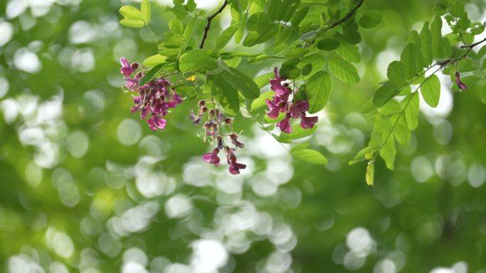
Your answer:
[[[329,95],[333,89],[333,79],[328,72],[319,71],[307,81],[307,99],[309,113],[317,113],[328,103]]]

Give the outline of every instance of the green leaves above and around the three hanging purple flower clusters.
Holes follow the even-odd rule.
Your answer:
[[[357,46],[361,35],[357,30],[359,26],[374,28],[382,21],[377,11],[356,15],[361,4],[362,0],[345,1],[347,8],[342,9],[337,1],[225,1],[222,9],[230,7],[232,22],[214,43],[209,40],[203,48],[211,18],[205,18],[205,12],[196,9],[193,1],[183,4],[175,0],[174,6],[167,9],[176,18],[168,23],[170,31],[164,33],[163,43],[158,44],[158,54],[144,60],[146,70],[141,84],[171,74],[178,77],[178,91],[183,90],[190,99],[213,96],[233,116],[240,108],[246,108],[244,112],[257,119],[264,130],[272,130],[274,123],[284,118],[271,120],[264,113],[265,100],[273,91],[260,94],[260,90],[269,84],[272,73],[253,80],[237,68],[242,59],[250,63],[269,58],[283,60],[281,76],[291,81],[294,88],[299,86],[299,99],[309,101],[309,113],[317,113],[328,102],[333,78],[350,84],[360,80],[352,65],[361,60]],[[150,16],[142,14],[150,10],[144,8],[147,5],[148,1],[143,1],[141,11],[122,7],[120,13],[125,18],[120,23],[136,28],[146,26]],[[258,54],[225,51],[232,39],[246,48],[264,44],[265,49]],[[291,143],[312,135],[316,129],[294,126],[291,134],[274,137],[282,143]],[[327,162],[320,152],[308,146],[308,143],[296,145],[291,153],[306,162]]]

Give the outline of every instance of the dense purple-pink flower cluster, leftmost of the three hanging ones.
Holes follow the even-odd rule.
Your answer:
[[[147,123],[152,130],[162,130],[167,123],[163,117],[169,113],[170,108],[178,106],[183,99],[175,93],[174,88],[171,88],[171,82],[168,79],[153,79],[140,86],[140,79],[144,77],[144,73],[138,72],[131,77],[139,65],[136,62],[130,64],[124,57],[121,57],[120,62],[120,72],[125,75],[125,87],[138,93],[138,96],[133,96],[135,105],[131,108],[131,112],[140,110],[142,119],[149,116]]]

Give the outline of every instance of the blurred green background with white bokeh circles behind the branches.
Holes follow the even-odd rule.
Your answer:
[[[362,105],[433,2],[365,1],[384,21],[362,30],[360,83],[336,84],[320,113],[311,143],[327,166],[292,160],[240,117],[248,167],[232,176],[200,160],[211,147],[188,119],[197,101],[175,108],[163,131],[130,113],[119,57],[156,54],[146,29],[118,24],[119,7],[135,1],[0,1],[0,272],[486,273],[477,93],[453,94],[442,77],[438,108],[421,108],[395,171],[377,162],[374,187],[365,163],[347,165],[372,129]],[[151,3],[162,40],[171,3]],[[228,10],[217,18],[210,43],[229,20]],[[241,67],[258,76],[275,65]]]

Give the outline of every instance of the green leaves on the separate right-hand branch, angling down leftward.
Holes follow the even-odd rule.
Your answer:
[[[486,53],[486,46],[478,54],[471,50],[484,41],[473,43],[475,35],[485,30],[485,24],[472,23],[464,4],[458,0],[440,1],[435,11],[436,17],[431,23],[424,23],[420,33],[411,31],[400,60],[389,64],[387,82],[377,89],[363,109],[364,113],[373,115],[373,132],[368,146],[358,152],[350,164],[368,160],[367,184],[374,182],[377,155],[389,169],[394,169],[395,141],[409,145],[411,131],[419,125],[419,96],[428,106],[438,106],[441,82],[437,72],[449,74],[452,82],[455,82],[456,72],[471,72],[465,79],[473,87],[470,89],[479,91],[484,98],[486,81],[480,59]],[[446,19],[451,33],[442,35],[441,16]],[[457,85],[453,90],[459,91]]]

